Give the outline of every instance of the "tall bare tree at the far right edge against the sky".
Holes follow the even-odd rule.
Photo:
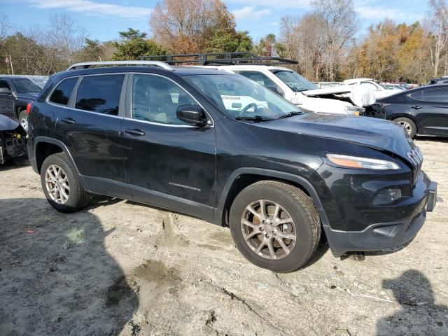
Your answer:
[[[429,0],[431,8],[429,18],[429,29],[433,36],[431,45],[431,64],[434,69],[434,76],[437,77],[440,59],[443,53],[447,53],[448,46],[448,6],[446,0]],[[448,57],[445,55],[445,57]],[[446,69],[445,69],[446,71]]]

